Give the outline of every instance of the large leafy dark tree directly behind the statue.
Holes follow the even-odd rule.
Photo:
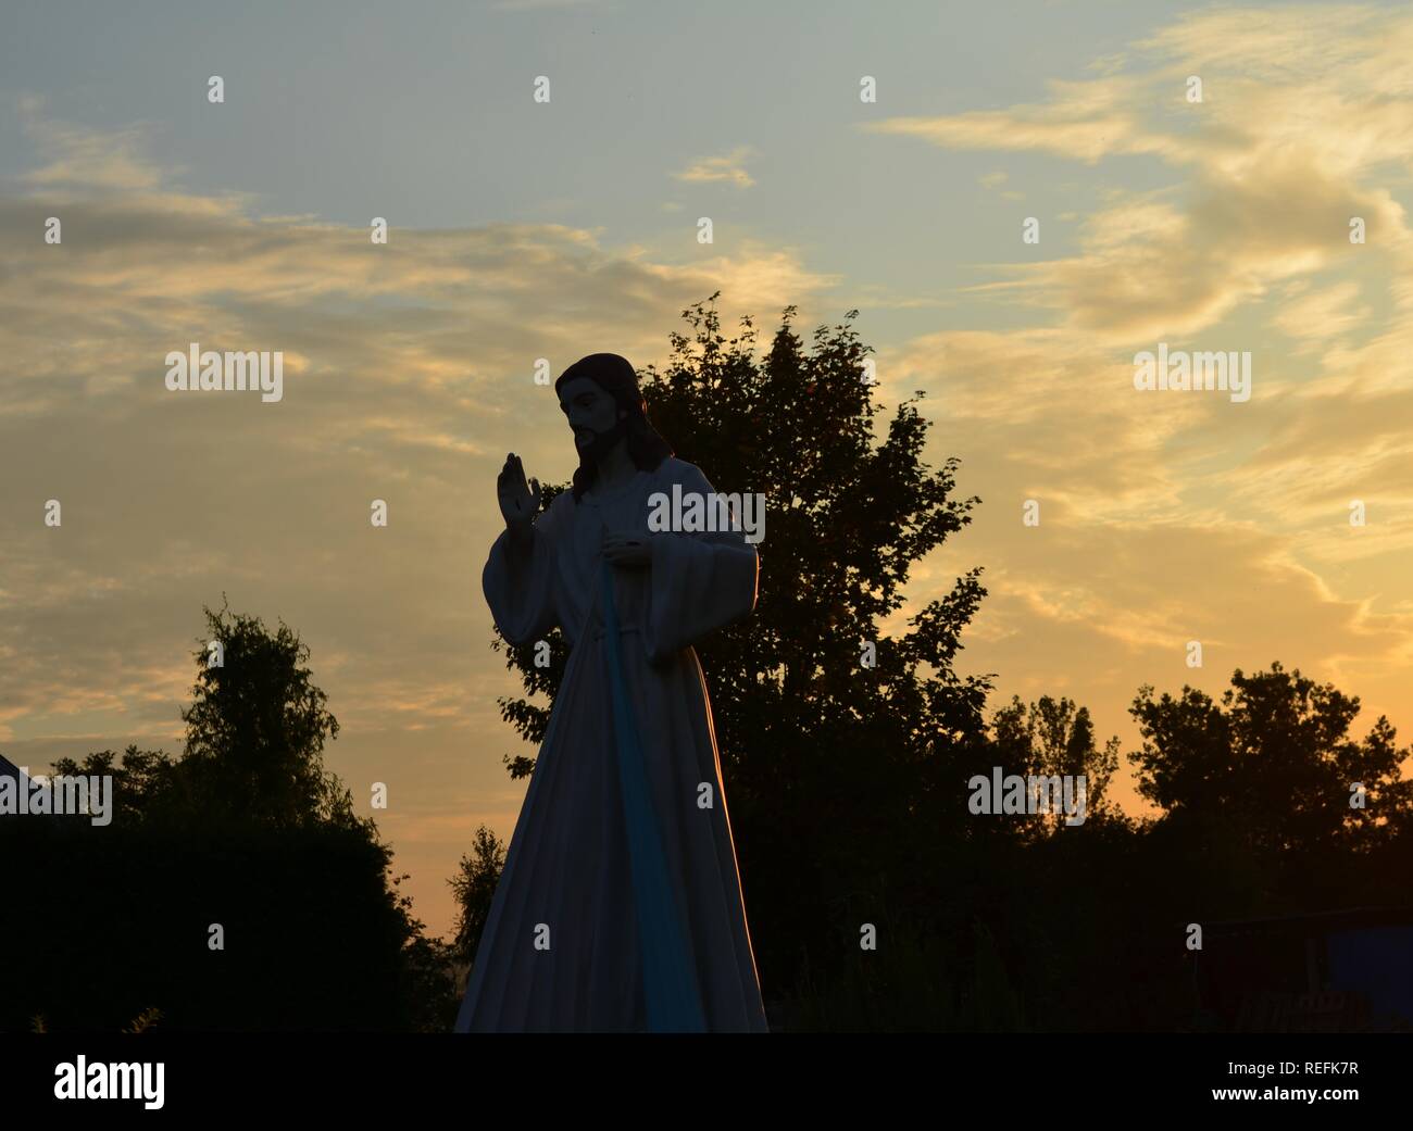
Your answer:
[[[962,819],[957,757],[985,733],[991,688],[954,671],[985,596],[981,570],[903,631],[882,627],[904,607],[913,563],[968,524],[979,500],[952,497],[955,459],[940,470],[923,462],[921,393],[876,438],[872,349],[849,325],[858,312],[818,328],[808,352],[794,313],[783,311],[757,360],[750,318],[726,340],[715,306],[695,304],[682,312],[692,336],[673,333],[666,371],[650,367],[642,383],[682,459],[719,491],[766,498],[756,611],[698,648],[763,981],[771,966],[786,979],[800,939],[856,950],[859,914],[877,916],[887,892],[900,898],[913,884],[937,823]],[[534,666],[531,648],[492,647],[526,689],[500,702],[502,714],[540,743],[562,637],[552,634],[548,668]],[[513,777],[533,765],[507,761]]]

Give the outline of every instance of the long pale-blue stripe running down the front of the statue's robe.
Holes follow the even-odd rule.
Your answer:
[[[637,720],[627,695],[627,681],[623,678],[610,562],[603,562],[603,640],[609,648],[613,734],[633,873],[633,904],[637,908],[647,1028],[650,1032],[705,1032],[706,1021],[702,1017],[691,952],[687,949],[687,930],[668,875],[663,836],[647,786]]]

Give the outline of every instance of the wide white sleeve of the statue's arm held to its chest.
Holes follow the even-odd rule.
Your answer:
[[[692,491],[704,498],[715,494],[706,476],[691,465],[684,465],[681,489],[684,497]],[[742,525],[740,515],[735,517],[732,525]],[[745,529],[663,532],[651,548],[643,631],[650,662],[667,659],[756,607],[760,559]]]

